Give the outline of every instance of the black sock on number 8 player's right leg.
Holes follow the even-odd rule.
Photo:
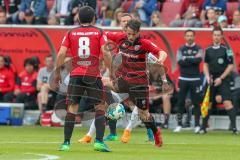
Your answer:
[[[105,112],[100,110],[96,111],[95,113],[96,140],[100,142],[103,141],[103,136],[105,132],[106,118],[104,115]]]

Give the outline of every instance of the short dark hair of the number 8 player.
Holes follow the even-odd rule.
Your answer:
[[[78,17],[81,24],[91,23],[94,20],[95,11],[90,6],[83,6],[79,9]]]

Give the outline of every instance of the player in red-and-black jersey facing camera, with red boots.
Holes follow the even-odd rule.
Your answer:
[[[130,20],[126,25],[125,33],[108,32],[108,39],[119,46],[122,58],[120,70],[117,71],[117,88],[119,92],[129,93],[130,100],[138,107],[140,118],[147,128],[154,133],[155,145],[162,146],[160,128],[156,127],[154,118],[148,111],[149,90],[147,76],[147,54],[152,53],[159,57],[158,63],[163,64],[167,54],[154,43],[140,36],[141,23]]]

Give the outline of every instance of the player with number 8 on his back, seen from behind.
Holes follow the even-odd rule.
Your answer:
[[[64,64],[68,49],[70,49],[73,57],[73,70],[70,73],[67,91],[68,112],[65,117],[64,143],[61,145],[60,150],[68,151],[70,149],[70,139],[78,111],[78,104],[86,92],[87,98],[91,99],[96,111],[96,140],[94,149],[109,152],[110,149],[103,142],[105,104],[103,102],[103,85],[99,70],[99,61],[102,57],[101,50],[103,51],[106,36],[100,28],[92,25],[95,22],[95,12],[91,7],[84,6],[79,9],[79,22],[80,26],[68,31],[63,38],[57,57],[56,83],[59,83],[60,68]]]

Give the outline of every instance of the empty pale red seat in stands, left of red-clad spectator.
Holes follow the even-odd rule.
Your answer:
[[[163,8],[162,8],[163,23],[165,23],[166,25],[169,25],[169,23],[176,17],[176,15],[180,13],[182,4],[183,4],[182,1],[163,3]]]

